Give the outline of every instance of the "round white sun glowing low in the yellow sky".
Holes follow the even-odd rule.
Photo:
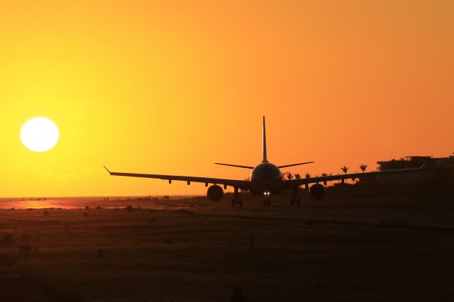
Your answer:
[[[57,125],[48,118],[32,118],[23,124],[21,129],[23,145],[35,152],[52,149],[59,136]]]

